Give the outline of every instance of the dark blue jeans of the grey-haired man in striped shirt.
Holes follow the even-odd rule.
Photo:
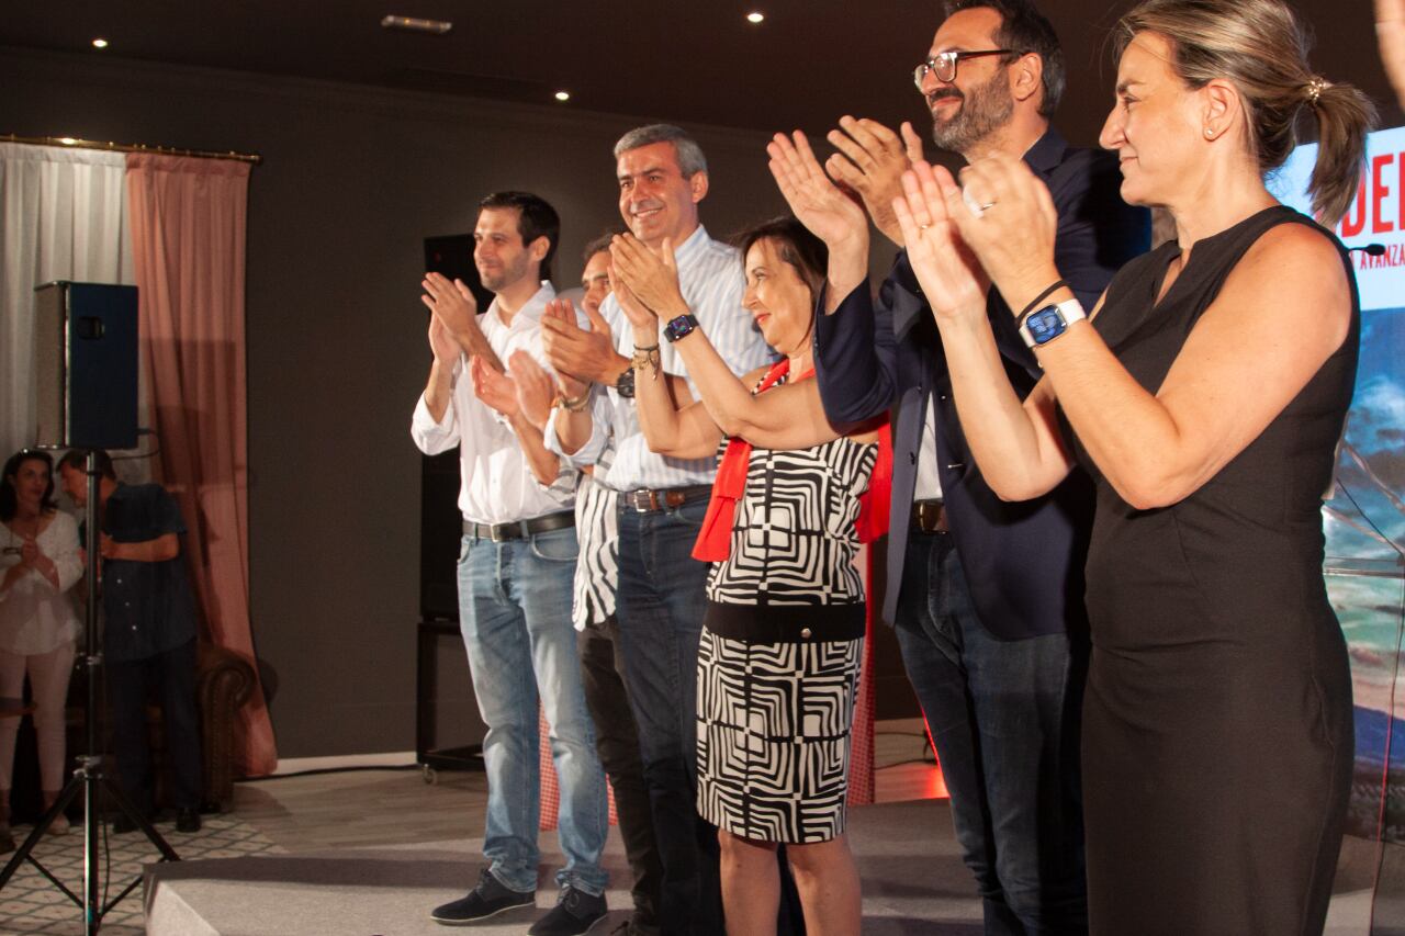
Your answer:
[[[697,814],[698,637],[710,566],[691,551],[705,513],[705,498],[620,513],[615,616],[663,864],[659,928],[680,935],[722,932],[717,829]]]

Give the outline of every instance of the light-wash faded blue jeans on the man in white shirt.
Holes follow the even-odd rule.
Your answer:
[[[573,528],[507,542],[464,537],[459,554],[459,623],[488,725],[483,854],[493,876],[514,891],[537,890],[538,691],[561,781],[558,833],[566,867],[556,883],[599,895],[608,881],[600,867],[610,829],[606,777],[596,759],[570,624],[575,568]]]

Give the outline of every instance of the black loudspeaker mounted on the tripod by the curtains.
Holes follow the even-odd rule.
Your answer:
[[[38,287],[34,343],[34,443],[136,448],[136,287]]]

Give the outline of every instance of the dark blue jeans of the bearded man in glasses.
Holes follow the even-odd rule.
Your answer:
[[[908,538],[898,645],[917,693],[985,932],[1086,933],[1078,725],[1086,651],[981,625],[947,534]]]

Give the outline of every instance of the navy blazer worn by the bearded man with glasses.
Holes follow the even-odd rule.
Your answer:
[[[1092,309],[1113,274],[1151,246],[1151,215],[1123,202],[1113,153],[1071,148],[1051,128],[1024,162],[1048,186],[1058,209],[1059,273]],[[988,313],[1006,374],[1023,399],[1040,378],[1038,363],[995,288]],[[961,431],[941,339],[906,252],[898,254],[877,305],[865,282],[832,315],[816,316],[815,375],[825,413],[836,424],[860,423],[896,406],[885,621],[894,623],[901,597],[917,448],[932,399],[947,524],[981,623],[1000,639],[1086,627],[1092,482],[1075,468],[1035,500],[1007,503],[991,490]]]

